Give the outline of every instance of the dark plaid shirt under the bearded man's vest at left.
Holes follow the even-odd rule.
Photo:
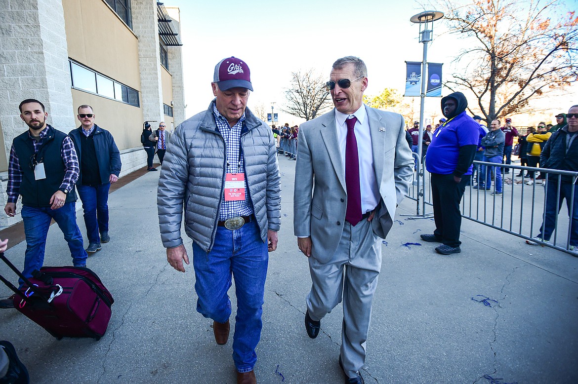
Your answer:
[[[38,150],[44,143],[44,138],[49,132],[49,129],[54,129],[50,125],[46,125],[46,129],[40,132],[40,140],[38,143],[30,135],[28,131],[28,137],[32,140],[34,145],[34,152],[38,153]],[[60,150],[62,155],[62,162],[64,162],[64,180],[60,188],[65,189],[70,192],[74,188],[76,180],[80,173],[80,168],[78,164],[78,157],[76,156],[76,150],[74,148],[74,143],[72,139],[68,136],[62,141],[62,148]],[[8,185],[6,187],[6,193],[8,193],[8,202],[16,203],[18,196],[20,195],[20,184],[22,184],[22,168],[20,167],[20,162],[18,162],[18,157],[16,156],[16,150],[14,150],[14,144],[10,148],[10,161],[8,163]]]

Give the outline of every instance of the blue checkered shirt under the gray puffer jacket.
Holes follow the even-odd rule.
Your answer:
[[[239,157],[241,129],[245,121],[245,114],[241,116],[237,124],[230,126],[227,119],[221,115],[217,106],[213,104],[213,115],[218,132],[225,140],[225,150],[227,151],[227,173],[244,173],[244,161]],[[245,175],[245,199],[237,202],[225,202],[225,195],[221,196],[221,211],[219,219],[221,221],[235,216],[249,216],[253,214],[253,205],[249,200],[249,189],[247,189],[247,175]]]

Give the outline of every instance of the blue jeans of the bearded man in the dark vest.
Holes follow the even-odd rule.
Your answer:
[[[75,202],[70,202],[56,210],[52,210],[50,207],[22,207],[21,214],[26,236],[26,252],[24,253],[24,270],[22,274],[25,277],[32,277],[32,271],[40,270],[44,263],[46,236],[51,219],[54,219],[64,234],[64,239],[71,251],[73,266],[86,265],[87,253],[84,251],[82,234],[78,225],[76,225],[75,206]],[[20,287],[24,285],[22,279],[19,279],[18,282]]]

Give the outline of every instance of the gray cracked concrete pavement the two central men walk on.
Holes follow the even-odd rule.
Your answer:
[[[282,225],[269,258],[255,374],[267,384],[342,383],[341,306],[322,320],[315,340],[303,326],[310,277],[292,233],[295,162],[279,160]],[[212,320],[195,311],[192,265],[183,274],[166,262],[158,175],[146,173],[110,195],[111,241],[88,259],[115,299],[100,341],[57,341],[16,310],[0,310],[0,339],[16,346],[32,383],[235,382],[232,332],[227,345],[215,344]],[[462,253],[441,256],[419,238],[432,233],[431,219],[399,216],[414,209],[402,202],[383,247],[366,383],[490,383],[484,375],[501,383],[578,382],[578,258],[468,220]],[[81,212],[77,220],[86,232]],[[191,241],[185,243],[191,254]],[[23,242],[6,255],[21,266],[24,249]],[[57,226],[46,255],[46,265],[71,261]],[[5,266],[0,273],[12,276]],[[2,285],[0,298],[9,294]],[[497,303],[472,300],[477,295]]]

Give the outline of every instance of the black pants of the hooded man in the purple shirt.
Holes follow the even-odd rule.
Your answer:
[[[457,184],[453,174],[431,174],[433,219],[436,227],[433,234],[441,238],[443,244],[450,247],[458,247],[462,244],[460,241],[462,226],[460,202],[468,180],[470,176],[462,176],[462,180]]]

